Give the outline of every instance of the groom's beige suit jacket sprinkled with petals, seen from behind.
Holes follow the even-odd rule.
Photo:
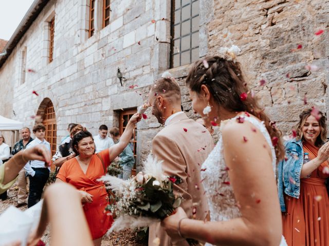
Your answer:
[[[187,130],[187,131],[186,131]],[[189,218],[195,208],[195,219],[204,220],[208,214],[208,203],[200,176],[201,165],[213,149],[210,133],[199,123],[189,119],[185,113],[175,115],[152,141],[152,153],[158,160],[163,160],[165,175],[179,176],[180,185],[174,187],[176,194],[184,200],[181,207]],[[150,227],[149,245],[155,238],[160,239],[160,246],[188,245],[187,242],[171,242],[160,223]]]

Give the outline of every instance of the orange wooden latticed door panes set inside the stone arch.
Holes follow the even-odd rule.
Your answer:
[[[46,128],[45,139],[50,144],[51,156],[53,156],[54,154],[56,154],[57,124],[55,111],[51,101],[49,101],[45,109],[42,124]]]

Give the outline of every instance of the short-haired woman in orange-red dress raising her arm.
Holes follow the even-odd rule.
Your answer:
[[[105,213],[109,204],[103,182],[98,181],[106,174],[107,167],[129,144],[135,124],[141,115],[136,113],[129,120],[120,141],[107,150],[95,154],[93,135],[87,131],[77,133],[72,139],[72,149],[76,157],[64,162],[56,182],[67,182],[77,188],[81,196],[83,210],[95,246],[100,246],[102,236],[111,227],[113,218]]]

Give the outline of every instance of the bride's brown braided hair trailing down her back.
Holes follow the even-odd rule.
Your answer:
[[[240,98],[242,93],[248,93],[249,90],[239,62],[220,56],[199,59],[192,65],[186,84],[196,93],[200,93],[201,86],[206,85],[218,106],[230,112],[245,111],[264,121],[270,137],[278,140],[275,146],[277,162],[284,158],[285,151],[280,139],[281,131],[264,113],[264,109],[259,106],[257,98],[250,94],[245,100]]]

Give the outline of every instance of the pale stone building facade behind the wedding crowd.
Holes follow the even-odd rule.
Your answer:
[[[174,25],[184,14],[182,7],[189,4],[190,21],[194,22],[190,32],[193,35],[193,25],[197,25],[198,35],[198,40],[195,35],[189,39],[190,44],[196,40],[198,47],[189,51],[191,55],[194,52],[192,58],[196,53],[198,57],[215,54],[222,46],[239,46],[242,52],[238,59],[250,89],[284,133],[296,124],[304,108],[317,106],[328,111],[326,0],[112,0],[105,27],[102,14],[107,1],[96,0],[94,35],[89,37],[90,2],[34,1],[39,13],[34,13],[33,22],[14,42],[12,52],[0,57],[1,115],[31,127],[35,122],[31,116],[43,115],[51,101],[58,145],[70,122],[84,125],[93,134],[101,124],[119,126],[120,112],[141,105],[147,99],[148,86],[169,70],[181,86],[185,112],[197,117],[184,85],[190,62],[186,63],[184,52],[177,48],[177,44],[182,48],[183,40],[176,38]],[[44,6],[40,7],[41,3]],[[197,18],[193,19],[193,11]],[[49,63],[53,19],[53,57]],[[186,30],[183,23],[178,28],[180,35]],[[324,30],[323,34],[315,35],[319,30]],[[174,54],[187,65],[177,66]],[[310,64],[318,71],[305,69]],[[117,68],[125,77],[122,86]],[[266,80],[264,86],[259,85],[261,79]],[[147,114],[148,119],[137,126],[137,166],[161,130],[155,117],[149,111]]]

